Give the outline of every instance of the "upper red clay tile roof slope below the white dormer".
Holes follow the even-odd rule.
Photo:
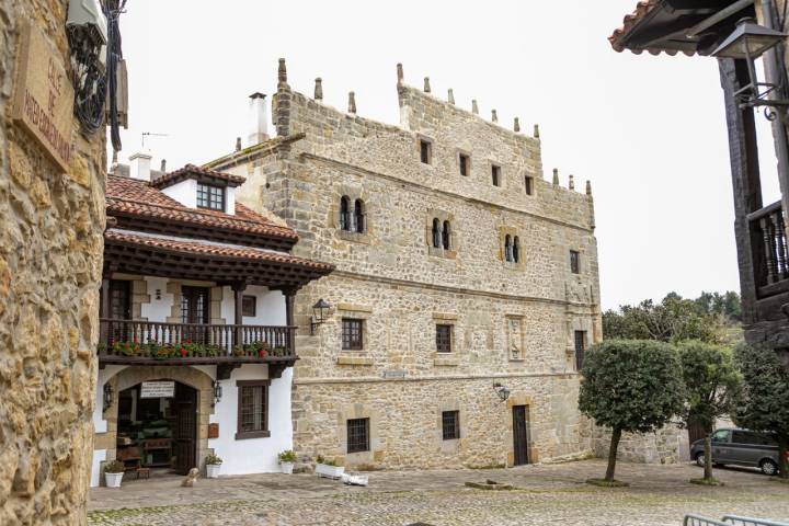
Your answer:
[[[282,238],[293,242],[298,240],[298,235],[291,228],[275,225],[240,203],[236,203],[236,215],[187,208],[145,181],[111,174],[107,175],[106,211],[108,216],[126,214],[198,227],[213,227],[231,232]]]

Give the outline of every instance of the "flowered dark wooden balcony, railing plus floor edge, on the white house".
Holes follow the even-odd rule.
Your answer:
[[[268,364],[270,376],[278,378],[298,359],[295,334],[295,327],[102,318],[99,365],[217,365],[222,379],[242,364]]]

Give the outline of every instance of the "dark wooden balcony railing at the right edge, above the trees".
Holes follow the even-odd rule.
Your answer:
[[[780,201],[748,214],[747,218],[758,296],[773,296],[789,289],[789,252]]]

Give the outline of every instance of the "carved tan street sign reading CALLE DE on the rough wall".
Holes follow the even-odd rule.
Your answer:
[[[71,162],[73,98],[61,57],[41,30],[27,23],[16,59],[11,118],[30,132],[65,172]]]

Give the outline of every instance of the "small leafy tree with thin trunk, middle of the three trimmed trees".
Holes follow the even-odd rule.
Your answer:
[[[740,396],[741,376],[728,348],[699,341],[679,345],[685,381],[685,425],[698,423],[705,432],[704,481],[713,482],[710,434],[718,418],[730,414]]]

